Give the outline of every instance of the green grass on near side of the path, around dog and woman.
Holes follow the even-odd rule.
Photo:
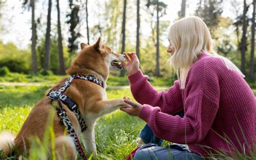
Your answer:
[[[48,88],[47,86],[0,86],[0,132],[9,130],[16,135],[32,110],[33,105],[44,97],[45,91]],[[108,99],[122,98],[123,96],[132,98],[132,94],[128,89],[107,89],[106,92]],[[122,159],[136,148],[137,143],[134,141],[139,134],[139,130],[144,125],[144,121],[136,117],[131,117],[121,111],[116,111],[99,118],[95,126],[98,155],[91,155],[90,158]],[[55,135],[52,132],[51,125],[46,130],[44,140],[40,141],[37,137],[31,140],[31,154],[29,156],[22,156],[22,159],[44,159],[48,158],[49,155],[50,159],[55,159],[55,152],[48,149],[51,144],[50,148],[54,150],[54,143],[50,142],[55,140]],[[164,145],[169,144],[167,141],[164,143]],[[87,155],[89,154],[87,153]],[[224,151],[217,151],[217,154],[210,154],[210,158],[213,157],[231,159],[227,152]],[[239,157],[240,159],[256,159],[255,152],[252,151],[251,157],[247,157],[238,151],[235,152],[234,157]],[[12,155],[10,159],[15,159],[15,155]]]

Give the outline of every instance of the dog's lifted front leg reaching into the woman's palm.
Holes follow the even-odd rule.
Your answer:
[[[99,100],[95,105],[99,111],[98,117],[101,117],[107,113],[116,111],[121,107],[127,106],[123,99],[112,99],[112,100]]]

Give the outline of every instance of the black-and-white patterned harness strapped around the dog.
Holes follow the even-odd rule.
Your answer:
[[[82,116],[82,114],[80,113],[80,111],[78,110],[78,106],[75,103],[75,101],[73,101],[71,98],[69,98],[68,96],[66,96],[65,94],[62,94],[71,84],[71,82],[73,81],[73,79],[84,79],[93,83],[96,83],[100,86],[102,86],[102,88],[104,88],[104,84],[102,81],[100,81],[100,79],[96,78],[93,75],[88,75],[88,76],[82,76],[82,75],[72,75],[71,77],[69,77],[69,79],[63,84],[62,88],[60,88],[59,90],[55,91],[55,90],[51,90],[47,96],[49,99],[51,99],[51,103],[53,100],[57,100],[58,101],[58,105],[59,107],[56,107],[57,110],[57,114],[60,117],[60,122],[63,123],[63,125],[66,127],[68,133],[70,134],[70,136],[73,139],[73,142],[75,143],[76,149],[78,151],[78,154],[80,157],[82,157],[83,159],[87,159],[84,150],[79,142],[78,136],[75,133],[75,129],[72,126],[72,123],[68,117],[68,115],[66,114],[66,111],[63,109],[62,107],[62,103],[61,101],[68,106],[69,110],[72,111],[81,126],[81,131],[84,132],[87,128],[86,123],[84,121],[84,118]]]

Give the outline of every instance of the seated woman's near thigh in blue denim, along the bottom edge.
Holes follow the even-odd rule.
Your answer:
[[[156,144],[146,144],[136,152],[133,159],[204,159],[188,150],[178,148],[177,145],[159,147]]]

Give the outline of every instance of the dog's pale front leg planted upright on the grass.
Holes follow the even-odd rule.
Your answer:
[[[87,124],[87,129],[82,133],[84,146],[87,151],[91,154],[97,155],[96,143],[95,143],[95,133],[94,133],[94,123],[91,122]]]

